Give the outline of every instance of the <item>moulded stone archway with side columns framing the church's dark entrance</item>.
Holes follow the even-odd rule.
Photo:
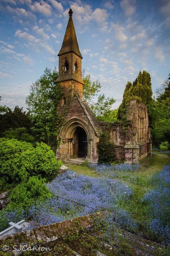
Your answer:
[[[92,132],[89,124],[81,117],[72,117],[62,127],[61,158],[92,159]]]

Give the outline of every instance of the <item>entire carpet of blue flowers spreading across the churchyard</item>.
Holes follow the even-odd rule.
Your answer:
[[[142,226],[139,218],[132,218],[132,213],[123,209],[124,204],[121,203],[129,204],[135,195],[133,183],[135,175],[142,173],[140,165],[91,164],[89,167],[95,170],[99,177],[67,170],[46,184],[52,194],[51,198],[33,204],[25,212],[20,209],[15,212],[2,211],[0,230],[6,228],[8,222],[17,222],[23,218],[30,222],[27,227],[30,229],[105,210],[105,237],[112,234],[116,224],[117,227],[134,233],[142,229],[151,240],[164,244],[169,242],[170,166],[165,166],[162,171],[149,177],[152,190],[148,190],[139,198],[141,205],[149,206],[149,212],[145,214],[145,226]],[[142,175],[145,176],[145,173]],[[143,207],[141,205],[140,207]]]

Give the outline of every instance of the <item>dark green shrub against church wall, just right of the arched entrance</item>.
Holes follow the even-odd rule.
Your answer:
[[[114,145],[110,141],[108,132],[104,132],[97,146],[99,153],[99,163],[111,163],[115,160]]]

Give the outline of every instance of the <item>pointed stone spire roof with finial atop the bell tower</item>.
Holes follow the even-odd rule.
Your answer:
[[[75,54],[83,58],[80,53],[77,37],[75,34],[74,24],[72,20],[72,10],[69,11],[69,15],[70,17],[69,17],[68,25],[66,28],[63,44],[60,52],[58,53],[58,56],[65,53],[74,52]]]

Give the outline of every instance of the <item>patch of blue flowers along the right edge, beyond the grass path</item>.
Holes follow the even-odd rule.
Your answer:
[[[142,202],[150,205],[148,232],[157,241],[163,243],[170,242],[170,165],[152,177],[152,182],[155,185],[154,189],[150,190],[142,198]]]

